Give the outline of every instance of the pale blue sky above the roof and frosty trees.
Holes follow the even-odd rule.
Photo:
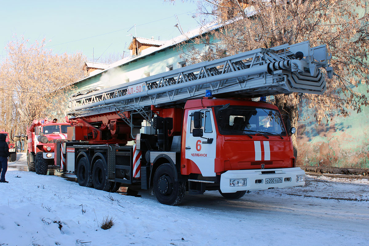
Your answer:
[[[13,34],[24,35],[31,43],[45,37],[51,39],[46,46],[56,53],[82,51],[92,60],[93,49],[95,59],[109,45],[104,55],[123,52],[124,46],[128,51],[128,35],[135,35],[135,30],[127,31],[134,24],[138,37],[154,36],[164,41],[180,35],[174,27],[178,23],[175,14],[183,31],[199,25],[192,18],[196,4],[181,0],[175,5],[163,0],[0,0],[0,6],[0,60]]]

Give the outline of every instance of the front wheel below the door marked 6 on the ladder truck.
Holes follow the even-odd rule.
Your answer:
[[[186,183],[174,180],[174,170],[169,163],[161,164],[154,174],[154,194],[166,205],[178,205],[186,192]]]

